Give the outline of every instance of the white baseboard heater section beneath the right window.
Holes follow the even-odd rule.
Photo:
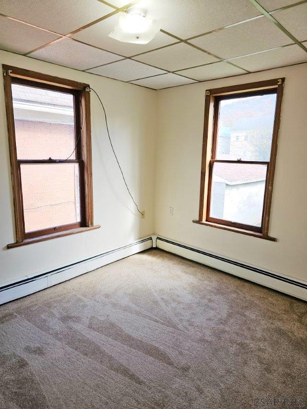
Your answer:
[[[254,283],[307,300],[307,283],[292,277],[263,270],[218,254],[191,247],[160,236],[156,237],[156,247],[185,257],[186,259],[208,265]]]

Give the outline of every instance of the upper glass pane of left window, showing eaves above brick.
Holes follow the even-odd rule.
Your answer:
[[[68,158],[76,144],[73,95],[12,84],[12,96],[17,158]]]

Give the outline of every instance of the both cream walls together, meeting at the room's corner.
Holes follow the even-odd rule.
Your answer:
[[[0,285],[154,232],[306,280],[307,64],[155,92],[5,51],[0,51],[0,63],[87,82],[99,93],[127,181],[141,210],[146,210],[145,219],[131,213],[135,209],[110,149],[103,112],[92,93],[94,223],[101,228],[7,250],[6,245],[15,240],[14,210],[0,85]],[[282,76],[286,80],[270,227],[270,235],[278,242],[192,223],[198,216],[205,90]],[[174,216],[169,216],[169,206],[174,207]]]

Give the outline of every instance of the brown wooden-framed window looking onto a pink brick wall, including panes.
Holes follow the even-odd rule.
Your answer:
[[[87,84],[4,68],[16,247],[93,226]]]

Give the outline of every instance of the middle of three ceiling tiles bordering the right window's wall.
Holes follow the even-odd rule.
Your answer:
[[[233,67],[227,62],[220,61],[214,64],[209,64],[208,66],[183,70],[178,74],[186,75],[187,77],[197,79],[198,81],[206,81],[214,78],[223,78],[232,75],[245,74],[245,71]]]

